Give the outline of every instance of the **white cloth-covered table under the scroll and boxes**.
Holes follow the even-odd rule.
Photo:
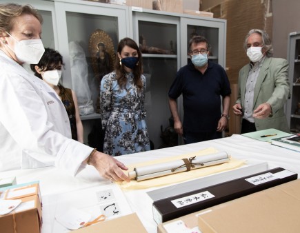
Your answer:
[[[173,148],[163,148],[137,154],[128,154],[117,157],[119,161],[129,165],[194,152],[206,148],[215,148],[226,151],[235,159],[249,159],[257,162],[268,162],[272,167],[281,167],[300,174],[300,153],[280,148],[270,143],[250,139],[246,136],[234,134],[223,139],[204,141],[189,145],[179,145]],[[17,183],[39,181],[41,195],[59,194],[96,185],[108,185],[110,181],[101,179],[98,172],[91,166],[73,177],[54,167],[34,170],[13,170],[1,172],[0,177],[16,176]],[[149,190],[135,190],[124,192],[133,212],[137,212],[148,232],[157,232],[157,224],[152,219],[152,205],[148,194]],[[145,207],[146,205],[146,207]],[[59,232],[55,232],[59,233]]]

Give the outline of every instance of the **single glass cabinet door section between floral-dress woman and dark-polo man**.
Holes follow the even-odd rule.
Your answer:
[[[133,38],[139,41],[146,76],[146,122],[154,149],[177,145],[177,134],[161,134],[170,125],[168,89],[176,77],[181,54],[179,17],[132,12]],[[171,132],[169,132],[171,133]],[[162,136],[162,137],[161,137]]]

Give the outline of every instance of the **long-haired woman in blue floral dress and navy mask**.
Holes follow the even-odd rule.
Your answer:
[[[103,152],[112,156],[150,150],[146,110],[146,78],[141,51],[130,38],[119,42],[114,71],[101,80],[100,113],[105,130]]]

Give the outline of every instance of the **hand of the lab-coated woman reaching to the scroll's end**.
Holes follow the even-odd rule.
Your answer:
[[[108,154],[97,151],[92,155],[90,165],[93,165],[105,179],[110,179],[112,181],[130,181],[129,177],[122,171],[128,170],[126,165]]]

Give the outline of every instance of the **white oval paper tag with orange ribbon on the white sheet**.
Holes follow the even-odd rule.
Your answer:
[[[83,225],[90,221],[90,218],[90,214],[74,207],[70,207],[65,213],[55,216],[55,219],[69,230],[76,230],[83,227]]]

